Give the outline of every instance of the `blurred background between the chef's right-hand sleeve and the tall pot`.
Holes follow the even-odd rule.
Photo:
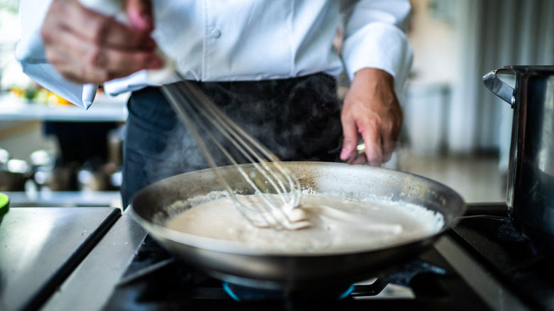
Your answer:
[[[554,65],[554,1],[413,0],[401,170],[504,201],[512,109],[483,86],[506,65]],[[502,77],[514,84],[513,77]]]

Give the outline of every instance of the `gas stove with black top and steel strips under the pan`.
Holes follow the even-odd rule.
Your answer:
[[[504,204],[469,204],[430,249],[389,275],[302,293],[246,288],[176,260],[124,212],[42,310],[554,310],[554,254]],[[325,273],[323,271],[322,273]]]

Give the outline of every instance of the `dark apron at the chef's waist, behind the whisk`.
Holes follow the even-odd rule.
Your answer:
[[[325,74],[256,82],[195,82],[281,160],[339,160],[341,103]],[[133,92],[124,139],[124,207],[146,185],[208,165],[157,87]]]

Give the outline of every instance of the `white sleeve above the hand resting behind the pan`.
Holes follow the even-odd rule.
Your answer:
[[[406,37],[410,9],[407,0],[365,0],[343,6],[341,55],[350,80],[358,70],[372,67],[393,75],[397,91],[403,87],[413,60]]]

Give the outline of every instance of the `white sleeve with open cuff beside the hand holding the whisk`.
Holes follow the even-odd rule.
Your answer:
[[[46,60],[40,28],[49,6],[48,0],[20,1],[21,38],[16,45],[16,60],[23,73],[45,89],[58,94],[72,104],[87,109],[94,100],[96,90],[90,86],[65,80]]]

